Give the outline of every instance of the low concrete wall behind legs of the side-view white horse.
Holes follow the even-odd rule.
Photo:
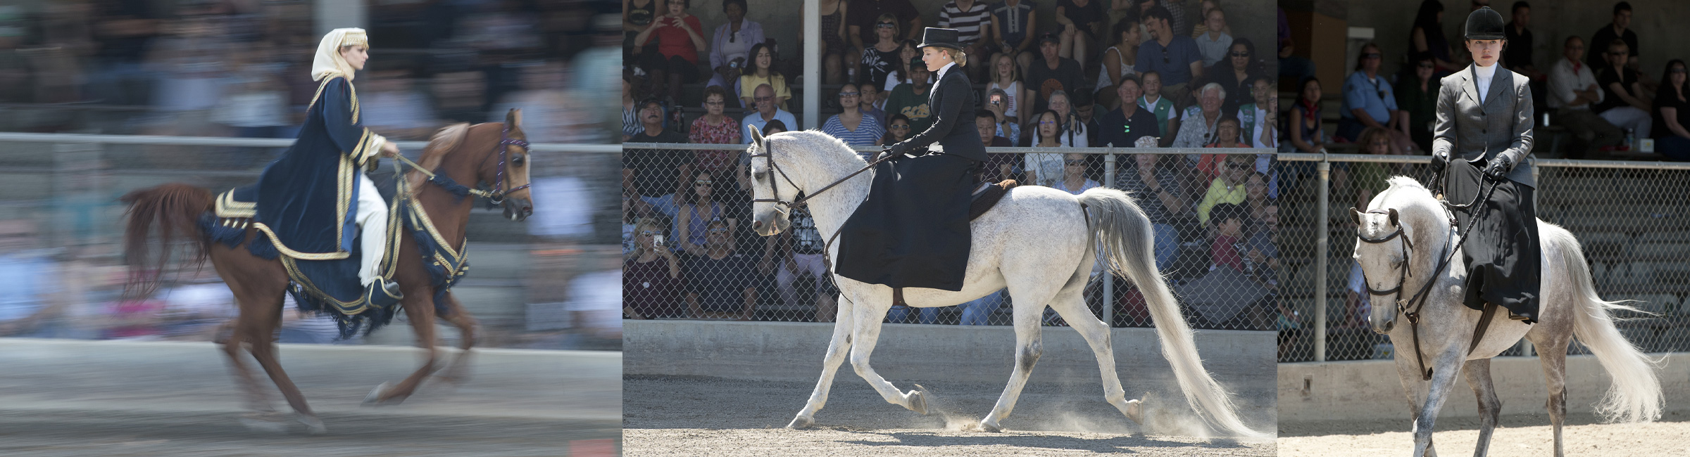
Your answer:
[[[624,374],[815,381],[833,332],[833,324],[811,322],[622,322]],[[1153,329],[1115,329],[1110,339],[1122,381],[1171,379]],[[1043,344],[1031,381],[1100,379],[1092,349],[1073,329],[1044,327]],[[1014,346],[1006,325],[886,324],[874,368],[887,379],[1000,383],[1014,368]],[[1273,395],[1273,332],[1198,331],[1197,347],[1229,388]],[[848,361],[840,368],[847,378],[857,378]]]

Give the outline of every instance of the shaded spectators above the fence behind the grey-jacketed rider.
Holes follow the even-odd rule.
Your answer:
[[[1489,7],[1489,0],[1472,2],[1472,8]],[[1501,7],[1501,5],[1497,5]],[[1690,111],[1683,61],[1644,62],[1639,59],[1638,30],[1631,27],[1633,7],[1617,2],[1611,15],[1589,34],[1568,34],[1560,40],[1553,62],[1535,62],[1531,51],[1533,5],[1513,2],[1502,12],[1509,17],[1504,35],[1507,47],[1501,64],[1531,79],[1533,106],[1540,116],[1540,153],[1548,153],[1553,135],[1565,135],[1567,145],[1555,153],[1568,159],[1668,159],[1690,160]],[[1465,19],[1465,13],[1458,15]],[[1391,142],[1389,153],[1426,153],[1431,148],[1440,79],[1465,69],[1460,39],[1445,37],[1443,3],[1423,0],[1415,15],[1406,56],[1386,56],[1379,46],[1366,44],[1357,67],[1342,81],[1340,120],[1333,132],[1320,128],[1320,81],[1300,66],[1281,59],[1281,78],[1298,78],[1298,103],[1283,125],[1291,135],[1284,152],[1318,152],[1327,143],[1362,143],[1366,130],[1381,130]],[[1284,54],[1281,54],[1284,56]],[[1401,62],[1396,74],[1382,74],[1382,62]],[[1660,78],[1644,67],[1661,66]],[[1330,86],[1328,86],[1330,88]],[[1313,98],[1305,98],[1313,96]],[[1310,103],[1313,101],[1313,103]],[[1543,116],[1546,115],[1546,116]],[[1563,133],[1565,132],[1565,133]],[[1653,150],[1643,150],[1653,140]]]

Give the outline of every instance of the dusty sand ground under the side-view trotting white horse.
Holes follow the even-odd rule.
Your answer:
[[[1175,411],[1188,408],[1169,393],[1158,393],[1156,405],[1166,408],[1156,408],[1159,420],[1149,430],[1134,425],[1104,401],[1095,378],[1028,384],[1004,422],[1007,433],[979,430],[1004,384],[921,384],[935,396],[930,408],[941,413],[921,417],[886,403],[847,366],[816,413],[818,427],[786,430],[815,383],[625,376],[622,445],[627,455],[1274,455],[1266,440],[1197,437],[1202,427]],[[1273,403],[1239,401],[1246,423],[1271,428]]]

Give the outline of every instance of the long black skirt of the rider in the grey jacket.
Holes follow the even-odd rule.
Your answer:
[[[1474,202],[1475,196],[1491,185],[1480,179],[1482,175],[1475,165],[1453,160],[1445,180],[1445,199],[1455,204]],[[1467,307],[1482,310],[1489,302],[1536,322],[1543,256],[1533,191],[1531,185],[1502,180],[1496,184],[1489,201],[1455,209],[1457,226],[1465,229],[1469,224],[1477,224],[1467,234],[1470,239],[1462,245],[1462,260],[1467,265]]]

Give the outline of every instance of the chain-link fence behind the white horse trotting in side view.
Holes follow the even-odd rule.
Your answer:
[[[831,322],[838,288],[825,234],[794,211],[777,236],[750,229],[744,145],[624,143],[624,304],[629,319]],[[1274,155],[1251,148],[987,148],[982,180],[1134,194],[1156,224],[1156,260],[1198,329],[1274,329],[1281,260]],[[859,147],[859,153],[879,147]],[[1070,155],[1063,155],[1070,153]],[[1029,174],[1033,170],[1033,174]],[[1153,192],[1161,189],[1166,192]],[[828,234],[830,236],[830,234]],[[1087,304],[1115,327],[1149,327],[1137,290],[1093,268]],[[1011,325],[1011,297],[892,309],[887,322]],[[1046,309],[1046,325],[1066,325]]]

